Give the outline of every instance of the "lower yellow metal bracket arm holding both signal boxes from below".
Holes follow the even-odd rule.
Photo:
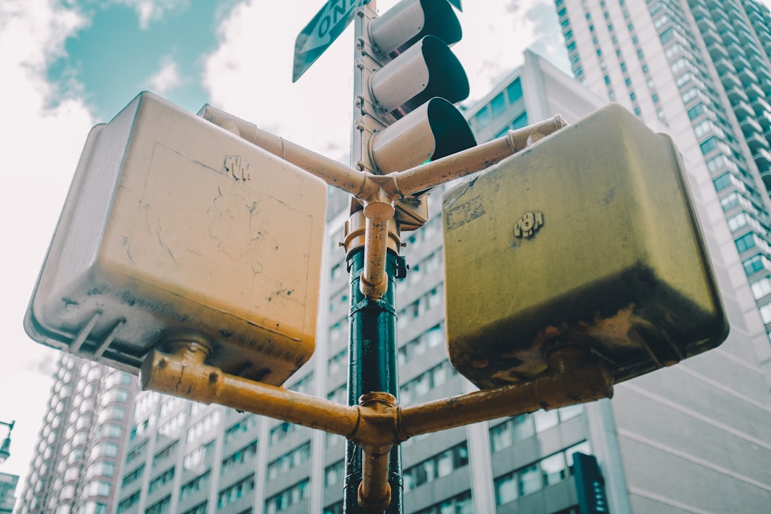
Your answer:
[[[608,368],[585,348],[567,346],[549,356],[549,371],[530,381],[401,408],[388,393],[359,405],[303,395],[222,372],[205,364],[211,347],[197,334],[168,338],[140,370],[143,389],[218,403],[245,412],[342,435],[362,447],[359,502],[382,512],[390,502],[389,452],[407,438],[505,416],[574,405],[613,395]]]

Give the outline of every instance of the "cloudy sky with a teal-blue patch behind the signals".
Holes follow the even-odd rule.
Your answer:
[[[0,421],[15,420],[0,472],[21,494],[59,352],[22,319],[83,143],[143,90],[197,112],[205,103],[333,159],[350,146],[352,27],[291,82],[295,37],[323,0],[0,0]],[[396,0],[379,0],[385,12]],[[465,0],[453,47],[470,101],[530,47],[568,69],[550,0]],[[0,438],[7,429],[0,426]]]

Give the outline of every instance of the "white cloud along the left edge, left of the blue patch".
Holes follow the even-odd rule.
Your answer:
[[[65,39],[86,23],[74,8],[62,7],[55,0],[0,2],[4,100],[0,156],[5,193],[0,202],[4,241],[0,252],[0,419],[15,419],[18,428],[13,433],[12,457],[3,471],[22,475],[22,479],[50,383],[50,367],[43,363],[56,358],[54,351],[29,340],[22,319],[93,124],[88,106],[76,96],[77,88],[63,96],[46,81],[45,73],[49,63],[63,54]],[[36,377],[34,386],[30,377]]]

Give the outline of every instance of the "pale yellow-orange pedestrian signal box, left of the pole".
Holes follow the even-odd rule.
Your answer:
[[[192,331],[281,385],[314,350],[325,208],[322,180],[142,93],[89,134],[25,328],[135,374]]]

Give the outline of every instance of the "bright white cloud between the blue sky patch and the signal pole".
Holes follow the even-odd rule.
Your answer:
[[[214,106],[332,158],[348,153],[352,32],[291,83],[295,37],[322,2],[242,2],[221,24],[204,87]]]

